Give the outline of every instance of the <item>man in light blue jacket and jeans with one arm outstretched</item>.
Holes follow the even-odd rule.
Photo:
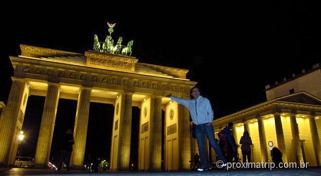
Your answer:
[[[212,106],[210,104],[210,101],[207,98],[202,97],[200,94],[200,89],[197,86],[194,86],[191,93],[193,99],[186,100],[171,95],[169,97],[172,100],[176,101],[178,104],[185,106],[190,111],[193,123],[196,125],[196,139],[199,145],[199,153],[201,158],[201,167],[198,170],[204,171],[208,169],[205,153],[204,134],[207,136],[210,145],[214,148],[218,159],[223,161],[224,164],[225,158],[223,157],[220,146],[214,140],[214,129],[212,125]]]

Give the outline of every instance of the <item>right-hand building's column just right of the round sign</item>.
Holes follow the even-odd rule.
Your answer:
[[[284,141],[283,127],[282,127],[282,122],[281,122],[281,115],[280,115],[280,113],[274,113],[273,115],[274,115],[277,147],[282,152],[283,162],[287,162],[286,147],[285,147],[285,141]]]

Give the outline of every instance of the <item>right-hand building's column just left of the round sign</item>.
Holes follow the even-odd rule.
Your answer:
[[[263,119],[261,117],[257,118],[257,124],[258,124],[258,128],[259,128],[259,138],[260,138],[260,148],[261,148],[262,161],[267,162],[268,161],[267,144],[266,144]]]

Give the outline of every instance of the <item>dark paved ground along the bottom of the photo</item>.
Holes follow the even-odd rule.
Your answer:
[[[72,170],[72,173],[61,171],[56,173],[52,169],[25,169],[25,168],[0,168],[0,175],[320,175],[321,167],[297,168],[297,169],[232,169],[222,170],[214,169],[208,171],[159,171],[159,172],[141,172],[141,171],[107,171],[107,172],[88,172],[85,170]]]

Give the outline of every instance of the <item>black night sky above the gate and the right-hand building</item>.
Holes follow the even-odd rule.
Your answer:
[[[266,101],[265,85],[320,62],[321,14],[311,2],[198,3],[0,5],[0,101],[7,103],[13,74],[8,56],[20,54],[19,44],[84,53],[92,49],[94,34],[104,40],[106,22],[116,23],[113,39],[134,40],[132,56],[139,62],[189,69],[215,118]],[[62,114],[73,116],[68,113]]]

